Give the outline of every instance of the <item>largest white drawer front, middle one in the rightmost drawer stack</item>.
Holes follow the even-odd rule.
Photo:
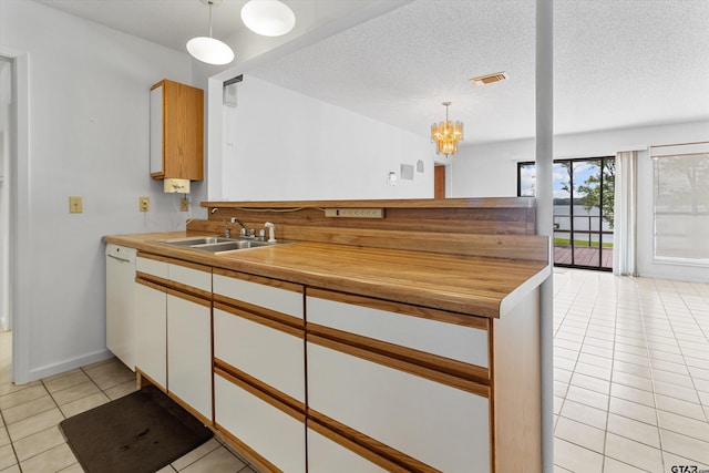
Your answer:
[[[486,398],[307,343],[308,407],[444,472],[490,470]]]

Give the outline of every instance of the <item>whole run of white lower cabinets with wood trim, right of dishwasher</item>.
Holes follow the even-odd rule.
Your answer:
[[[137,259],[137,368],[259,470],[492,471],[486,320]]]

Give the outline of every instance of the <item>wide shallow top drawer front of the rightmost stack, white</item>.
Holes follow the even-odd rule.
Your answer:
[[[307,297],[308,322],[487,368],[487,331]]]

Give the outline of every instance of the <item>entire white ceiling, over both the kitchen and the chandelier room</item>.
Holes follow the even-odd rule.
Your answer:
[[[35,1],[178,51],[208,27],[199,0]],[[278,41],[300,49],[247,74],[421,135],[451,101],[466,143],[534,136],[534,0],[285,2],[298,23]],[[274,41],[245,31],[244,3],[213,11],[237,58],[245,42]],[[554,17],[555,133],[709,120],[709,1],[556,0]],[[354,27],[304,40],[328,24]],[[510,79],[467,82],[500,71]]]

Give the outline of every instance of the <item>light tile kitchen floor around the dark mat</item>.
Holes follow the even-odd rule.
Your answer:
[[[113,358],[28,384],[9,380],[11,333],[0,331],[0,473],[82,472],[59,423],[135,390],[135,374]],[[255,473],[212,439],[158,473]]]

